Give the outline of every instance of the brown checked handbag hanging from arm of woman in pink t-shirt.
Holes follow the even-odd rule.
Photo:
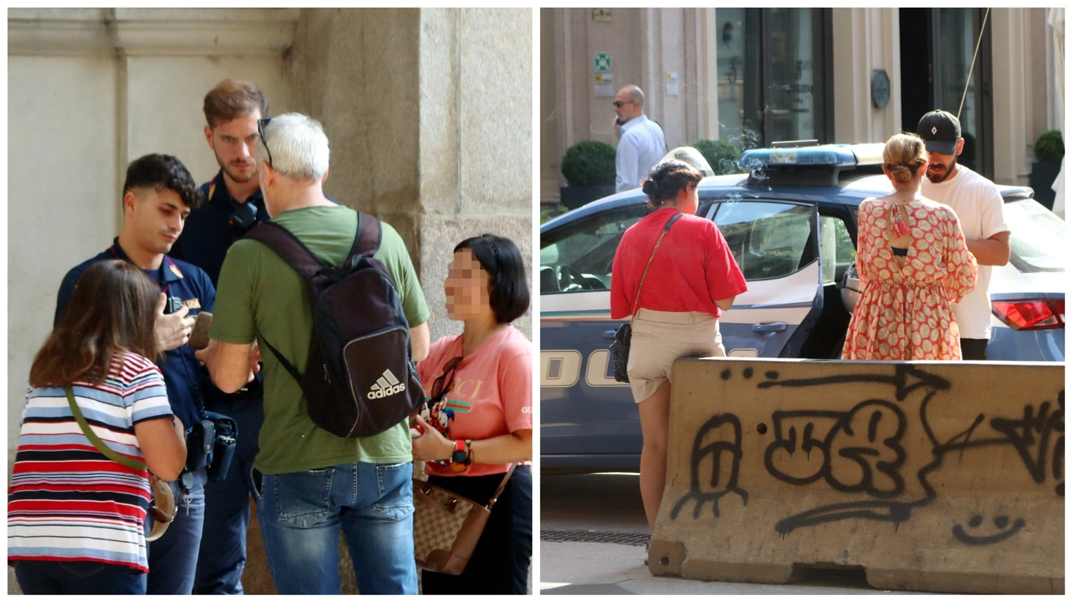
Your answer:
[[[511,465],[486,505],[414,477],[413,556],[418,568],[452,576],[466,570],[515,467]]]

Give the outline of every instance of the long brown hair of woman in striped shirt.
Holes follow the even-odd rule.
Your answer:
[[[159,291],[145,273],[121,260],[86,269],[56,328],[30,366],[30,385],[60,387],[76,379],[100,384],[117,352],[155,358]]]

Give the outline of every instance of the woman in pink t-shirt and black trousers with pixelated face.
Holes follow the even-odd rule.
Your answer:
[[[481,503],[518,466],[466,571],[423,571],[422,589],[525,594],[532,557],[532,343],[511,326],[529,309],[521,253],[503,237],[466,239],[455,247],[443,289],[447,315],[462,321],[462,334],[432,343],[417,364],[429,400],[413,428],[413,457],[426,462],[429,483]]]

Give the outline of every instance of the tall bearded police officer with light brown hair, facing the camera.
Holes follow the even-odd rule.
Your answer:
[[[224,79],[205,94],[203,108],[205,141],[220,171],[201,186],[205,203],[190,214],[172,255],[205,270],[215,286],[231,245],[268,219],[253,157],[258,120],[268,112],[268,99],[252,82]],[[205,485],[205,529],[194,594],[242,594],[253,492],[250,470],[264,421],[262,381],[258,373],[234,394],[214,385],[205,391],[206,409],[235,420],[238,435],[227,473]]]

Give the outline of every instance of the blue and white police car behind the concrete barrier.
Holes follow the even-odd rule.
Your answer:
[[[891,191],[882,152],[881,144],[752,149],[739,161],[747,173],[701,180],[696,215],[719,225],[749,283],[720,319],[729,356],[839,357],[859,290],[857,206]],[[999,189],[1011,259],[991,273],[988,359],[1064,362],[1064,221],[1029,188]],[[612,260],[645,201],[641,189],[624,191],[541,226],[544,472],[640,467],[637,409],[614,380],[607,345],[623,322],[611,319]]]

